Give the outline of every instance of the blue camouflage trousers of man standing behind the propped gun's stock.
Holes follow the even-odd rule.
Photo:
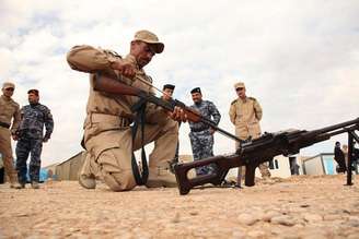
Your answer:
[[[204,159],[213,156],[213,135],[209,130],[204,130],[200,132],[189,132],[192,153],[194,155],[194,160]],[[206,165],[196,168],[196,175],[208,175],[216,170],[216,165]]]

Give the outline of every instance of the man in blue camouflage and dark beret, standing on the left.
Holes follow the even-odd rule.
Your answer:
[[[27,94],[30,105],[21,109],[21,123],[18,131],[16,169],[19,181],[24,187],[27,172],[26,160],[28,154],[31,154],[28,175],[32,188],[38,189],[43,143],[50,139],[54,130],[54,120],[50,110],[38,103],[38,91],[30,89]],[[46,128],[45,135],[44,124]]]

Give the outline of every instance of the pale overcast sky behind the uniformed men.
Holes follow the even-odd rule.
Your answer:
[[[93,3],[91,3],[93,2]],[[77,154],[82,138],[88,74],[72,71],[67,51],[92,45],[127,55],[138,29],[165,44],[146,68],[154,85],[176,85],[175,97],[192,104],[200,86],[218,106],[220,127],[243,81],[263,109],[263,131],[312,130],[359,116],[359,1],[0,1],[0,83],[16,84],[14,99],[27,104],[28,88],[54,115],[43,165]],[[181,128],[181,154],[190,154],[188,126]],[[302,155],[332,152],[334,141]],[[216,135],[215,153],[234,152]]]

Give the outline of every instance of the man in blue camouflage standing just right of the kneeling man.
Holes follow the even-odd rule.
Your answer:
[[[218,111],[213,103],[209,100],[202,100],[202,95],[199,87],[190,91],[194,105],[190,108],[197,110],[202,117],[211,119],[216,124],[219,123],[221,115]],[[213,156],[213,133],[215,130],[202,122],[189,121],[189,139],[192,145],[192,152],[194,160],[207,158]],[[197,176],[207,175],[213,172],[215,165],[208,165],[196,168]]]

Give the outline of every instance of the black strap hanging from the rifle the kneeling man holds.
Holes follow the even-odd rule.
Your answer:
[[[144,152],[144,122],[146,122],[146,99],[140,99],[137,104],[131,107],[132,111],[136,111],[136,119],[135,123],[131,127],[132,130],[132,145],[135,143],[138,126],[141,124],[141,164],[142,164],[142,174],[140,172],[136,156],[132,150],[132,158],[131,158],[131,166],[132,166],[132,174],[138,186],[143,186],[147,183],[147,179],[149,177],[149,167],[147,164],[146,152]]]

